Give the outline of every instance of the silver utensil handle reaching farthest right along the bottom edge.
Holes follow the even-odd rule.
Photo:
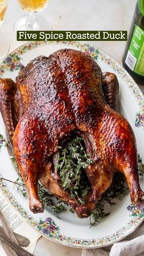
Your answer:
[[[27,252],[26,250],[24,250],[22,247],[20,247],[18,244],[14,243],[13,241],[10,240],[10,238],[8,238],[7,236],[2,235],[2,233],[0,232],[0,240],[3,243],[7,243],[15,252],[16,254],[20,255],[20,256],[34,256],[33,254],[31,254],[30,252]],[[11,254],[12,255],[12,254]]]

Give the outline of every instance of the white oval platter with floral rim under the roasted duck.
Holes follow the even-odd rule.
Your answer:
[[[21,64],[26,65],[30,60],[39,55],[49,56],[49,54],[62,48],[73,48],[85,51],[95,58],[102,71],[112,71],[117,75],[120,84],[118,111],[131,123],[137,141],[138,152],[144,160],[143,94],[124,68],[100,49],[77,42],[26,43],[15,49],[9,56],[5,57],[2,64],[0,64],[0,76],[1,78],[12,78],[15,81]],[[1,116],[0,134],[6,138],[5,126]],[[18,178],[18,174],[15,167],[12,165],[7,147],[1,147],[0,163],[1,176],[15,181],[16,178]],[[143,180],[141,180],[141,186],[144,189]],[[143,207],[139,207],[139,205],[132,207],[129,194],[110,209],[111,213],[107,218],[104,218],[103,221],[90,229],[89,218],[79,219],[76,214],[70,213],[69,211],[58,215],[54,214],[49,209],[45,209],[45,212],[42,214],[31,213],[27,197],[23,197],[20,192],[17,192],[10,182],[1,180],[0,189],[15,210],[18,211],[32,227],[37,229],[41,235],[67,246],[86,248],[107,246],[128,236],[137,229],[143,221]]]

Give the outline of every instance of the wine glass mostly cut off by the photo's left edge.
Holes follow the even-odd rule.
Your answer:
[[[5,10],[7,9],[8,0],[0,0],[0,25],[4,20]],[[0,35],[0,59],[2,59],[9,51],[9,41]]]

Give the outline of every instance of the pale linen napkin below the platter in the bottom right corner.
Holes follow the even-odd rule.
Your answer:
[[[82,249],[81,256],[143,256],[144,255],[144,222],[134,233],[124,240],[98,249]]]

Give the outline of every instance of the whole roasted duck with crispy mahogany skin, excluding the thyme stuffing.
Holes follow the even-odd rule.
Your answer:
[[[9,88],[5,90],[8,83],[0,80],[1,113],[11,137],[11,127],[15,129],[13,148],[31,211],[43,212],[38,198],[40,179],[54,196],[68,202],[79,218],[86,218],[111,185],[115,171],[125,175],[132,203],[143,202],[134,133],[128,121],[112,109],[118,94],[115,75],[102,76],[95,60],[81,51],[61,49],[21,68],[16,78],[15,104]],[[14,117],[19,119],[16,128]],[[55,168],[57,146],[73,131],[84,138],[87,153],[94,160],[85,170],[92,186],[85,205],[63,190]]]

